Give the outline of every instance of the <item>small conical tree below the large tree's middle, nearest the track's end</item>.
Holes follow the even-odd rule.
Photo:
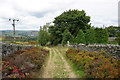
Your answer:
[[[72,43],[73,41],[73,36],[71,35],[71,33],[69,32],[69,30],[65,30],[64,33],[63,33],[63,39],[62,39],[62,42],[61,44],[62,45],[65,45],[67,43],[67,41],[70,41],[70,43]]]

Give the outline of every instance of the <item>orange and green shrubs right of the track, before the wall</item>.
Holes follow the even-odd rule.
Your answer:
[[[84,70],[86,78],[118,78],[118,60],[106,55],[104,51],[89,52],[69,49],[66,56],[76,64],[79,70]]]

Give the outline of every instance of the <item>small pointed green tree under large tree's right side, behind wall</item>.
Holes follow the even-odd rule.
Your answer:
[[[85,34],[83,33],[83,31],[80,29],[76,38],[75,38],[75,42],[76,43],[85,43]]]

